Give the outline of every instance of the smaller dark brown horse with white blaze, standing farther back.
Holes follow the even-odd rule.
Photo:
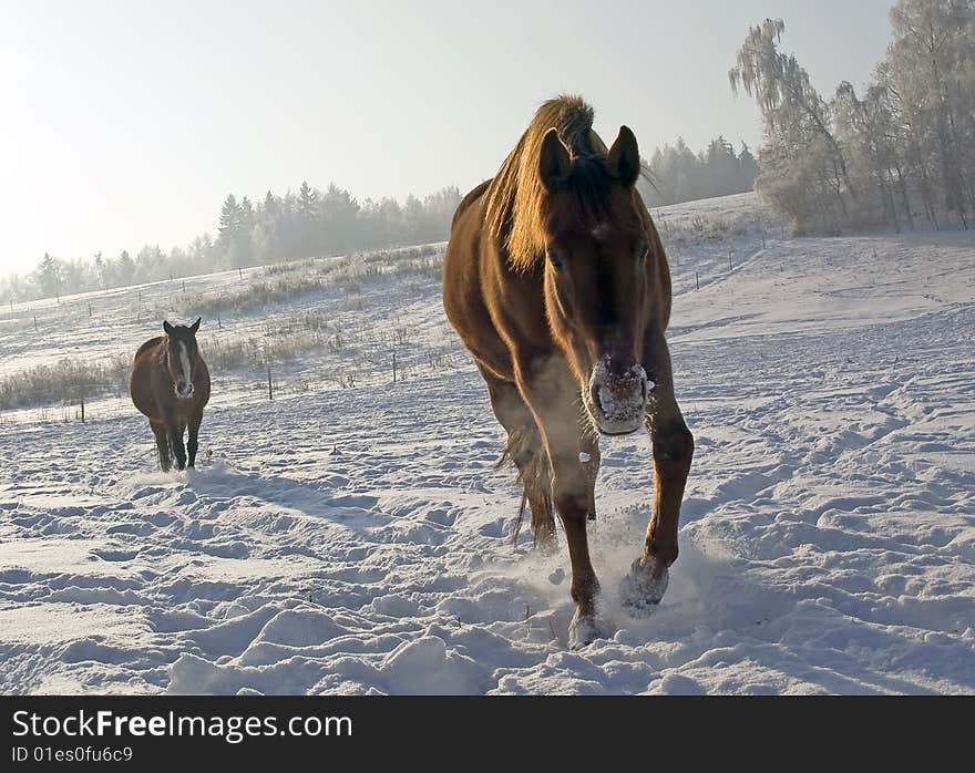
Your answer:
[[[197,437],[203,409],[209,400],[209,371],[196,346],[199,319],[188,328],[163,321],[165,336],[150,339],[135,352],[129,393],[135,408],[148,418],[156,436],[160,466],[168,471],[196,465]],[[189,442],[183,447],[183,433],[189,427]]]

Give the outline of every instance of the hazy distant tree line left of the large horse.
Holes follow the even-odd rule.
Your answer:
[[[229,194],[216,234],[202,234],[186,247],[162,250],[145,245],[134,255],[96,252],[59,258],[48,252],[27,275],[0,277],[0,301],[55,298],[253,265],[322,255],[429,244],[447,239],[461,195],[445,187],[422,200],[408,196],[360,203],[345,188],[325,190],[302,182],[297,193],[269,190],[256,204]]]

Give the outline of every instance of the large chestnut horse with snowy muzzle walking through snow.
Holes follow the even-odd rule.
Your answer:
[[[594,427],[646,425],[653,441],[653,515],[622,589],[637,611],[667,587],[694,453],[664,339],[670,271],[635,187],[639,174],[629,128],[607,150],[592,107],[551,100],[497,176],[461,202],[444,259],[444,309],[507,431],[535,543],[554,542],[553,504],[565,529],[576,647],[599,633],[586,542],[599,467]]]

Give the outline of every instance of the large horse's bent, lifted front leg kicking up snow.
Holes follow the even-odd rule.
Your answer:
[[[663,337],[651,351],[654,359],[647,371],[656,386],[647,405],[647,430],[654,446],[654,512],[643,554],[634,561],[622,590],[624,604],[633,611],[659,604],[667,589],[668,569],[677,560],[680,502],[694,456],[694,436],[674,398],[670,357]]]

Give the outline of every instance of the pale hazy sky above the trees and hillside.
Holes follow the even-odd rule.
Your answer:
[[[727,73],[782,18],[821,93],[862,86],[892,0],[0,0],[0,274],[185,246],[228,193],[359,199],[491,177],[541,102],[582,94],[612,142],[761,140]]]

